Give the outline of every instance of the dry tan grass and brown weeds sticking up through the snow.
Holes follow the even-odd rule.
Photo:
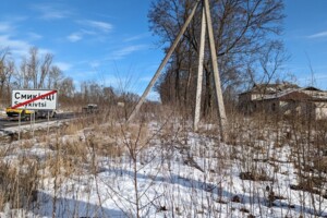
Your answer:
[[[158,108],[156,109],[159,111]],[[152,140],[155,135],[157,140],[159,138],[162,150],[167,152],[175,145],[190,155],[190,158],[193,158],[194,154],[197,156],[206,154],[205,148],[198,153],[191,150],[187,144],[187,133],[191,131],[189,120],[173,118],[171,110],[160,111],[160,114],[155,117],[157,132],[149,132],[149,122],[155,118],[150,111],[145,113],[138,117],[137,122],[131,124],[125,124],[124,120],[118,119],[118,116],[114,119],[113,113],[107,113],[78,118],[60,128],[51,129],[50,135],[43,134],[46,131],[39,131],[35,133],[34,138],[31,138],[31,134],[26,133],[24,141],[14,144],[17,147],[8,148],[0,154],[0,157],[4,159],[9,154],[16,155],[20,149],[34,147],[45,149],[45,155],[43,158],[38,155],[16,155],[15,165],[0,161],[0,210],[3,210],[7,203],[10,203],[12,208],[28,206],[35,201],[35,192],[45,179],[56,178],[55,186],[58,189],[64,179],[90,172],[97,174],[99,172],[97,161],[102,157],[116,158],[126,155],[133,159],[134,170],[137,171],[136,162],[142,159],[142,152],[153,145]],[[245,119],[235,114],[230,122],[227,137],[229,156],[219,150],[220,134],[217,125],[203,125],[196,133],[217,142],[217,154],[210,154],[210,157],[219,159],[219,169],[210,166],[208,169],[214,170],[208,172],[208,177],[214,171],[220,174],[225,170],[222,168],[227,168],[233,161],[239,162],[242,180],[262,182],[262,184],[274,183],[274,175],[279,171],[280,161],[276,156],[276,149],[289,145],[293,150],[292,161],[295,161],[300,178],[293,189],[312,194],[324,194],[320,190],[317,192],[327,183],[323,179],[327,171],[327,152],[324,144],[327,129],[324,129],[324,125],[308,126],[308,122],[294,120],[286,122],[263,114]],[[168,160],[169,155],[171,154],[162,155],[162,158],[167,158],[162,162]],[[261,166],[263,162],[269,165],[269,161],[272,162],[269,170]],[[17,168],[17,166],[23,167]],[[306,166],[311,166],[311,169],[305,170]],[[210,178],[213,182],[217,182],[215,177]],[[274,202],[277,196],[277,194],[267,195],[266,198]],[[247,209],[243,211],[252,213]]]

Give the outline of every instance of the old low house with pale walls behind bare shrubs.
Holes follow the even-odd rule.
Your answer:
[[[264,111],[327,119],[327,92],[291,83],[255,84],[249,92],[239,95],[239,108],[246,114]]]

